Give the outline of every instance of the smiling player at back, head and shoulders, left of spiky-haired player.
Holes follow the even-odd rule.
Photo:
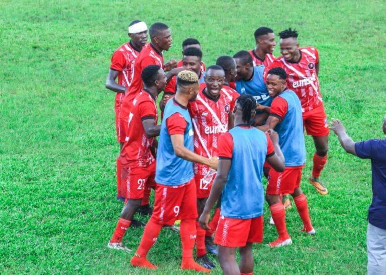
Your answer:
[[[254,36],[256,46],[249,51],[253,59],[253,66],[268,67],[276,59],[272,54],[276,47],[275,34],[268,27],[260,27],[255,31]]]

